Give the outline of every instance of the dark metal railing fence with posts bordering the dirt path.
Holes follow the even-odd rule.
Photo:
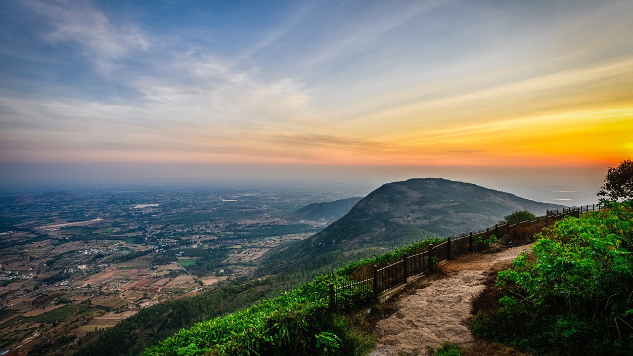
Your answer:
[[[373,266],[373,276],[363,281],[357,281],[341,286],[330,284],[330,309],[349,310],[360,302],[378,302],[380,295],[391,289],[397,288],[408,279],[427,273],[440,262],[450,260],[451,257],[463,253],[472,252],[482,245],[492,235],[517,235],[527,227],[544,227],[561,220],[566,216],[579,217],[580,213],[601,210],[599,205],[586,205],[580,208],[563,208],[560,210],[548,210],[546,215],[536,219],[526,220],[513,224],[495,224],[474,232],[465,232],[456,237],[446,238],[441,243],[430,246],[429,250],[415,253],[409,256],[404,253],[403,259],[384,267]],[[530,236],[531,237],[531,236]]]

